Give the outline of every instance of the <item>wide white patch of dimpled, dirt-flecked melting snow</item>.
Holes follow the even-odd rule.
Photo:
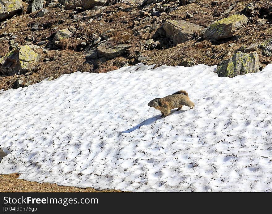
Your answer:
[[[271,191],[272,65],[234,78],[215,68],[138,64],[0,91],[0,173],[96,189]],[[160,118],[147,106],[181,89],[194,109]]]

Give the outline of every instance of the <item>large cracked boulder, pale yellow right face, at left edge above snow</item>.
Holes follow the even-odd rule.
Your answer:
[[[0,73],[3,75],[24,74],[29,65],[38,62],[40,55],[34,52],[30,46],[24,45],[8,52],[0,58]]]

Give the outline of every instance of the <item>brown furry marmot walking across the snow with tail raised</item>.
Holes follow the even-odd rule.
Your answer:
[[[194,108],[194,103],[190,101],[188,93],[184,90],[178,91],[172,95],[165,96],[163,98],[156,98],[151,100],[148,106],[160,110],[162,113],[161,117],[166,117],[171,113],[171,109],[181,110],[183,105]]]

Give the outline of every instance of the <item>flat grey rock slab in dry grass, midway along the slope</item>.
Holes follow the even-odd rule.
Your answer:
[[[113,45],[110,42],[103,42],[97,47],[97,52],[105,57],[113,59],[121,56],[130,45]]]

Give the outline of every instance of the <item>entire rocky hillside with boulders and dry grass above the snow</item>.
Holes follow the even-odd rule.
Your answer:
[[[0,89],[139,62],[258,72],[272,62],[271,20],[268,0],[0,1]]]

